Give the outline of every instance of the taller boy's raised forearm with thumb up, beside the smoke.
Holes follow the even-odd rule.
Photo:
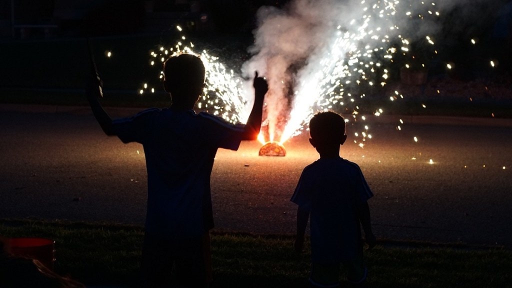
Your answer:
[[[261,118],[263,116],[263,99],[268,91],[267,80],[258,77],[258,72],[254,74],[254,81],[252,83],[254,87],[254,105],[247,119],[242,140],[254,140],[258,138],[261,129]]]

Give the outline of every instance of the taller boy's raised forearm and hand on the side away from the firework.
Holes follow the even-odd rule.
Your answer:
[[[96,70],[96,65],[94,64],[91,56],[91,68],[86,88],[87,100],[89,101],[94,117],[96,117],[96,120],[101,126],[101,129],[103,129],[103,132],[105,132],[106,135],[113,136],[116,134],[112,129],[112,118],[110,118],[109,114],[106,113],[99,101],[99,98],[103,97],[102,87],[102,80]]]

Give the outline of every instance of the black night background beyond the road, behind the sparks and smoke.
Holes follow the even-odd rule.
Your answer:
[[[148,65],[149,51],[172,46],[186,35],[197,51],[206,49],[211,55],[222,56],[228,69],[239,71],[251,56],[247,48],[253,43],[258,9],[269,5],[283,8],[287,2],[0,0],[0,101],[84,104],[89,49],[105,80],[105,91],[112,96],[109,99],[117,97],[140,105],[137,93],[148,83],[157,93],[146,98],[165,101],[160,98],[160,67]],[[484,86],[500,85],[509,90],[511,3],[479,1],[442,11],[435,23],[443,27],[436,39],[438,53],[424,49],[424,40],[418,40],[412,45],[415,51],[396,56],[389,83],[400,81],[401,61],[415,57],[428,63],[429,81],[483,81]],[[468,16],[468,11],[473,16]],[[184,31],[178,32],[176,25]],[[478,44],[471,45],[471,39]],[[107,51],[113,56],[105,57]],[[489,59],[496,60],[495,68],[490,67]],[[446,63],[456,69],[446,71]],[[421,89],[423,93],[424,86]],[[366,94],[383,93],[376,90]],[[508,95],[499,96],[510,100]],[[482,97],[489,96],[483,93]]]

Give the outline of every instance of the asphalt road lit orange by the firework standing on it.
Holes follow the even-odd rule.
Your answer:
[[[399,118],[369,117],[364,148],[349,126],[341,152],[375,194],[377,238],[512,247],[512,120]],[[144,223],[142,147],[104,136],[89,109],[0,105],[0,124],[0,218]],[[255,141],[219,150],[211,178],[217,230],[294,233],[289,199],[318,156],[307,135],[285,146],[286,157],[258,156]]]

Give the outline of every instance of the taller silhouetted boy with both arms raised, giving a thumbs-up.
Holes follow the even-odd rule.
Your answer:
[[[141,271],[144,285],[205,287],[211,281],[209,230],[214,227],[210,174],[218,148],[237,150],[260,132],[267,82],[255,73],[255,102],[246,125],[232,125],[193,110],[205,86],[205,68],[191,54],[164,63],[172,105],[112,120],[102,109],[101,80],[94,64],[88,90],[93,113],[107,135],[139,142],[147,168],[147,214]],[[171,282],[175,269],[176,282]]]

